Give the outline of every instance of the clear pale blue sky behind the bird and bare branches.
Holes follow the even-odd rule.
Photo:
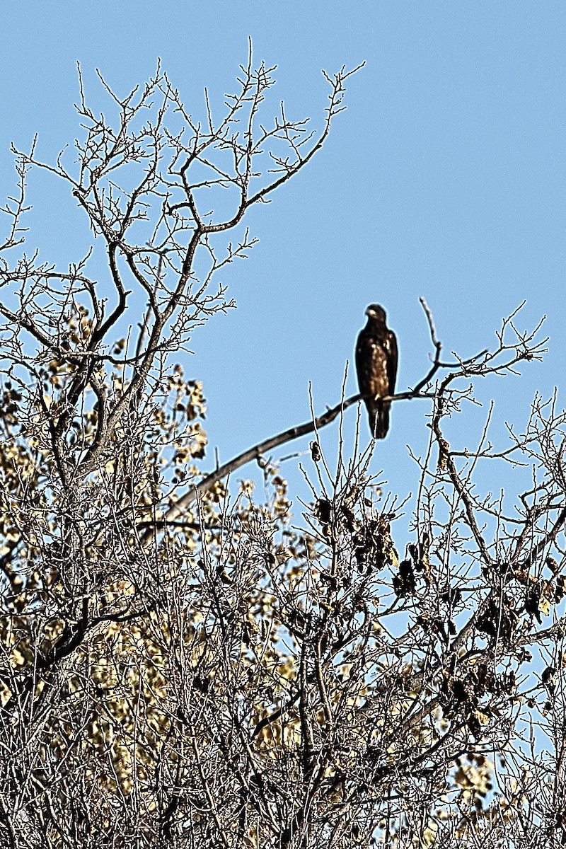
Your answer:
[[[211,443],[223,461],[308,419],[309,382],[317,411],[338,402],[369,302],[398,335],[399,388],[416,383],[430,350],[420,295],[446,352],[462,356],[493,344],[524,299],[521,328],[548,315],[545,363],[480,387],[496,397],[497,420],[520,425],[536,390],[560,387],[566,356],[565,25],[563,2],[521,0],[4,2],[3,194],[10,141],[37,133],[48,159],[76,137],[77,60],[98,98],[95,68],[126,92],[159,56],[198,112],[205,86],[221,104],[250,36],[255,57],[278,65],[276,102],[314,121],[326,105],[321,70],[365,61],[308,171],[249,216],[260,244],[224,275],[238,310],[194,337],[187,370],[205,383]],[[76,258],[88,233],[69,191],[37,178],[31,200],[29,245],[46,261]],[[427,411],[396,405],[378,446],[375,468],[403,492],[416,482],[405,446],[423,447]],[[462,418],[465,444],[483,414]],[[332,452],[335,428],[325,440]],[[294,477],[293,464],[284,471]]]

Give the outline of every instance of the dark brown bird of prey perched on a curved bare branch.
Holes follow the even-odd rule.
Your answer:
[[[390,402],[380,399],[395,392],[397,340],[385,323],[383,306],[370,304],[367,324],[356,344],[356,370],[361,395],[365,396],[369,429],[374,439],[383,439],[389,428]]]

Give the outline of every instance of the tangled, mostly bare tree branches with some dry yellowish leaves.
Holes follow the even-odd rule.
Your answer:
[[[391,399],[429,407],[402,555],[403,504],[373,479],[373,444],[348,457],[340,442],[331,471],[319,438],[360,396],[200,469],[203,387],[178,360],[229,306],[216,271],[254,244],[244,231],[222,253],[218,237],[321,148],[352,72],[327,77],[318,132],[283,107],[266,125],[272,73],[250,55],[202,124],[160,69],[126,98],[101,78],[115,122],[81,82],[76,164],[15,151],[3,845],[563,846],[564,414],[536,398],[501,449],[489,422],[474,451],[452,430],[479,378],[541,359],[540,328],[513,314],[493,350],[445,360],[423,302],[432,363]],[[24,252],[34,167],[70,184],[102,274],[100,241],[65,271]],[[308,433],[311,503],[292,518],[268,453]],[[226,476],[251,459],[267,497],[245,483],[230,496]],[[534,469],[513,514],[474,488],[479,464],[501,463]]]

